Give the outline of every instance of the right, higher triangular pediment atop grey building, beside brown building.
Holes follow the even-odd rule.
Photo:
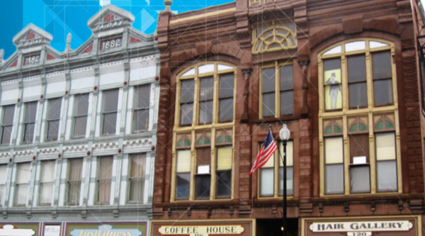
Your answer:
[[[98,32],[131,26],[133,21],[135,21],[135,16],[132,13],[117,6],[107,5],[90,18],[87,25],[93,32]]]

